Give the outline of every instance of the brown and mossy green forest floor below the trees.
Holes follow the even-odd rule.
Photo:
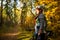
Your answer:
[[[19,30],[17,30],[19,29]],[[0,40],[30,40],[32,38],[32,31],[20,30],[18,27],[12,29],[0,29]],[[7,32],[4,32],[7,31]],[[60,40],[60,36],[51,40]]]

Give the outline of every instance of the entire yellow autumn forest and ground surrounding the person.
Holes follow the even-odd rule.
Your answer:
[[[0,0],[0,40],[29,40],[34,33],[36,6],[43,7],[50,40],[60,39],[60,0]]]

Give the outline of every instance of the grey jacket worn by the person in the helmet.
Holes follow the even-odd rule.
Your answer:
[[[35,32],[38,33],[39,29],[45,30],[47,21],[43,13],[40,13],[36,19]]]

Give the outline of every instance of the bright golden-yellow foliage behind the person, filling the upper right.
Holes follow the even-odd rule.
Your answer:
[[[52,23],[51,21],[59,20],[59,15],[55,15],[55,14],[57,14],[57,11],[56,10],[59,9],[57,7],[58,2],[57,1],[54,1],[54,0],[38,0],[38,2],[36,2],[36,6],[37,5],[43,5],[43,4],[45,4],[45,8],[47,9],[47,11],[44,12],[44,14],[46,14],[45,16],[46,16],[46,18],[48,20],[48,26],[51,27],[51,24],[52,25],[55,24],[55,23]],[[50,20],[50,17],[53,17],[54,20]],[[51,27],[51,29],[54,30],[54,26]]]

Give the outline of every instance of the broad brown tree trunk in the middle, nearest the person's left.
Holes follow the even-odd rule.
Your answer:
[[[25,19],[26,19],[26,15],[27,15],[27,4],[26,4],[26,0],[22,1],[20,0],[23,4],[23,7],[21,7],[22,11],[21,11],[21,26],[23,26],[25,24]]]

